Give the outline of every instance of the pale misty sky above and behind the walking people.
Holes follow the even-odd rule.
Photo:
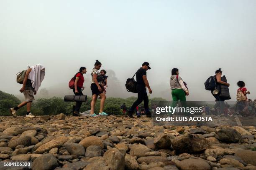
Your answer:
[[[177,67],[187,100],[214,99],[204,82],[218,68],[232,100],[238,80],[255,99],[255,7],[255,0],[0,0],[0,90],[19,94],[16,73],[37,63],[46,67],[41,88],[70,93],[68,81],[84,66],[89,89],[100,60],[127,97],[126,79],[148,61],[153,97],[172,100],[170,70]]]

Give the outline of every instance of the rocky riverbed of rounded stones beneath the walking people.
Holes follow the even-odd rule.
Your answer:
[[[64,114],[0,121],[0,160],[31,161],[32,170],[256,170],[255,126]]]

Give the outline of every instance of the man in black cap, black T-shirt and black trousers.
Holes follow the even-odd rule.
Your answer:
[[[152,93],[152,90],[151,90],[148,80],[147,80],[147,72],[146,71],[148,69],[151,69],[151,67],[149,67],[149,63],[144,62],[142,64],[142,67],[140,67],[138,69],[138,71],[136,72],[136,81],[137,81],[136,89],[138,92],[138,99],[133,103],[130,110],[128,111],[129,117],[133,117],[134,109],[139,104],[141,104],[142,101],[144,101],[144,108],[145,108],[147,117],[151,117],[151,113],[149,112],[149,109],[148,109],[148,95],[147,95],[147,91],[146,91],[146,87],[148,87],[149,93],[150,94]]]

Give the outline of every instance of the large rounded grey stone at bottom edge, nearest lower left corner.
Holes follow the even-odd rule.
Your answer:
[[[37,157],[32,163],[32,170],[54,170],[58,167],[58,160],[54,155],[48,153]]]

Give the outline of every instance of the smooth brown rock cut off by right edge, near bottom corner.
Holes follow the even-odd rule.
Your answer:
[[[235,156],[240,157],[244,162],[256,166],[256,151],[252,150],[237,150]]]

